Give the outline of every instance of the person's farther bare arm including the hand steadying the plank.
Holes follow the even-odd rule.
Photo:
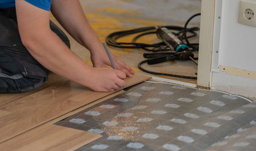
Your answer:
[[[111,66],[111,62],[99,38],[90,26],[86,16],[84,16],[78,0],[53,0],[51,10],[69,34],[82,46],[89,49],[94,67]],[[134,71],[114,54],[112,56],[117,69],[125,72],[127,76],[132,76],[131,73],[134,73]]]

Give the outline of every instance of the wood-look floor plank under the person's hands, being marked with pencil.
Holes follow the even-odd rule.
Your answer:
[[[135,74],[132,78],[125,80],[129,87],[149,78]],[[65,81],[3,105],[0,110],[11,114],[1,118],[0,142],[113,93],[94,92],[77,83]]]

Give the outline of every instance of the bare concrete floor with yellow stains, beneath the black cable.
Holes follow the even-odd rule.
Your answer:
[[[101,41],[104,41],[105,37],[110,33],[120,30],[156,25],[184,26],[185,21],[190,16],[199,13],[201,10],[200,0],[80,0],[80,3],[84,14],[87,16],[91,26]],[[51,19],[56,23],[54,17],[51,17]],[[200,17],[193,19],[189,26],[199,27]],[[131,41],[131,38],[133,37],[134,35],[127,36],[121,38],[120,41]],[[89,51],[81,47],[71,36],[69,36],[69,38],[71,41],[71,50],[88,64],[92,65]],[[138,41],[153,44],[159,42],[159,39],[156,35],[149,35],[141,37]],[[198,41],[199,36],[193,39],[193,42]],[[144,60],[142,54],[145,51],[139,49],[118,49],[113,47],[111,47],[110,50],[121,60],[126,62],[134,71],[144,73],[137,68],[137,64]],[[145,64],[143,67],[155,72],[187,76],[196,76],[195,73],[197,72],[196,64],[191,61],[165,62],[155,64],[151,67]],[[174,77],[166,78],[196,83],[196,80]]]

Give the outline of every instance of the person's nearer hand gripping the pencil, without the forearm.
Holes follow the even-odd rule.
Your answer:
[[[125,87],[126,74],[111,68],[91,68],[86,86],[93,91],[110,92]]]

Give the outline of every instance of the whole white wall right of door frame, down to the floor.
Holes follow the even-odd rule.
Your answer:
[[[256,27],[238,23],[240,0],[216,0],[216,3],[210,87],[256,97],[255,77],[238,76],[241,71],[256,72]],[[230,67],[232,74],[220,71],[221,66]]]

